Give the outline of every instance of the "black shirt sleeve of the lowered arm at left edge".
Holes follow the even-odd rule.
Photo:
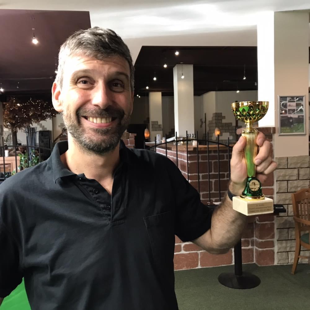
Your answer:
[[[0,297],[11,293],[22,281],[19,268],[19,251],[0,216]]]

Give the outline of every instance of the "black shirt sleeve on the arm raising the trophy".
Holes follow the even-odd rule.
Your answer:
[[[200,201],[197,190],[170,161],[169,175],[175,195],[175,234],[183,241],[193,241],[211,227],[212,210]]]

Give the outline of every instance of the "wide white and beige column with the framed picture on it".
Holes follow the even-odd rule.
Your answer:
[[[274,126],[275,157],[308,155],[309,13],[270,12],[257,26],[258,100],[269,101],[260,127]],[[305,135],[278,135],[278,96],[305,95]]]

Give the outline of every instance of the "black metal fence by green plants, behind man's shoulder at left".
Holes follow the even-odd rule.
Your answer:
[[[21,146],[22,145],[4,145],[4,139],[2,137],[2,146],[0,146],[0,183],[20,170],[20,165],[18,165],[18,161],[20,161],[20,156],[19,154],[16,153],[16,151]],[[40,144],[29,145],[28,143],[25,146],[23,145],[23,147],[26,148],[26,152],[27,152],[26,161],[28,163],[32,161],[32,157],[31,157],[32,154],[34,154],[38,158],[38,162],[42,162],[46,160],[51,155],[51,152],[53,149],[52,143],[51,143],[50,148],[42,147],[40,146]],[[11,166],[12,160],[8,161],[7,159],[8,157],[5,154],[5,151],[9,150],[10,148],[12,150],[15,150],[14,152],[15,154],[9,156],[10,158],[15,157],[15,160],[13,161],[13,166]],[[11,166],[11,168],[7,169],[8,166]]]

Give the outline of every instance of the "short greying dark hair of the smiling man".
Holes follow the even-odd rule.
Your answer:
[[[60,47],[58,55],[58,69],[55,82],[62,88],[64,63],[72,55],[83,54],[98,60],[111,56],[121,56],[127,60],[130,68],[130,86],[134,90],[135,68],[132,63],[129,48],[122,38],[111,29],[93,27],[78,30],[73,33]]]

